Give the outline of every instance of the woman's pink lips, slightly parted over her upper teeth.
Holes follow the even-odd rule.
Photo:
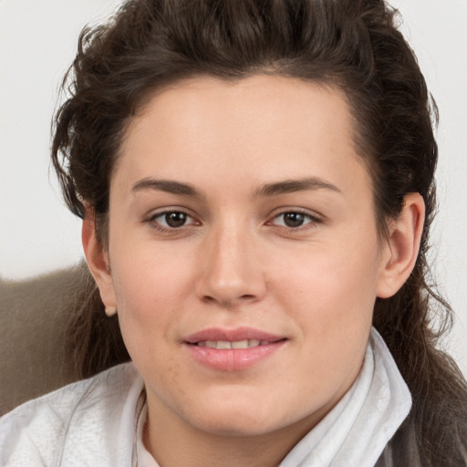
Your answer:
[[[285,344],[286,338],[251,327],[209,328],[185,339],[192,358],[203,366],[238,371],[259,364]]]

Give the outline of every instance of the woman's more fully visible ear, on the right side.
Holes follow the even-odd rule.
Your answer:
[[[379,274],[379,298],[393,296],[409,278],[420,249],[425,221],[425,202],[420,193],[409,193],[398,218],[389,223]]]

